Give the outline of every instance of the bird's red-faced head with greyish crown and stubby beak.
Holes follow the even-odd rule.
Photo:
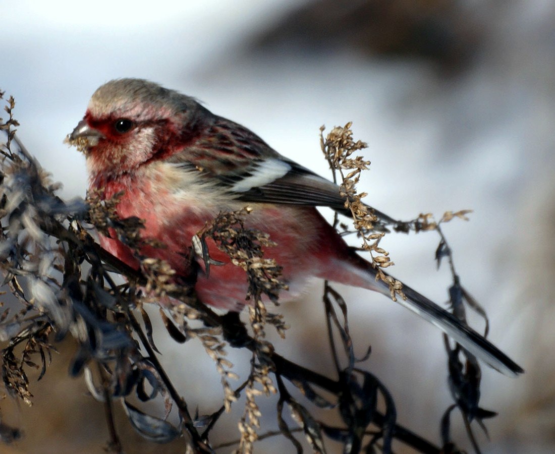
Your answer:
[[[89,175],[119,175],[182,149],[207,112],[195,99],[143,79],[99,87],[69,135],[87,157]]]

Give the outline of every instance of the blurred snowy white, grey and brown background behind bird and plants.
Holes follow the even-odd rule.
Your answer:
[[[479,440],[485,452],[553,452],[555,3],[18,0],[0,2],[0,16],[0,88],[16,98],[19,137],[65,198],[87,186],[83,156],[62,140],[90,95],[109,79],[142,77],[199,98],[322,174],[320,125],[351,120],[369,144],[368,203],[399,219],[473,209],[470,223],[445,226],[457,271],[490,315],[490,338],[527,371],[515,380],[484,368],[481,403],[499,416],[487,421],[491,441]],[[392,273],[441,303],[450,281],[447,267],[435,269],[437,241],[390,235],[383,244]],[[282,307],[291,330],[276,347],[326,371],[320,287],[310,302]],[[372,345],[365,367],[389,387],[398,422],[438,442],[450,405],[440,333],[384,297],[342,291],[358,352]],[[67,377],[71,349],[32,384],[32,408],[2,402],[26,438],[0,451],[103,452],[103,407]],[[217,408],[219,376],[205,355],[173,342],[163,351],[189,403]],[[237,418],[227,421],[221,441],[236,436]],[[182,448],[148,445],[130,429],[123,437],[128,452]],[[462,429],[455,439],[467,446]],[[258,452],[290,450],[272,440]]]

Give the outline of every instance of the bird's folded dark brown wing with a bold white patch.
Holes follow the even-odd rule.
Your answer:
[[[327,206],[351,216],[339,186],[283,157],[258,135],[224,118],[217,117],[211,130],[175,159],[183,167],[199,170],[206,179],[217,180],[236,200]],[[382,226],[395,224],[386,214],[372,210]]]

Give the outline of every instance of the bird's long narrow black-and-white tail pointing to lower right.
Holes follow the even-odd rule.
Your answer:
[[[335,276],[327,276],[327,278],[344,284],[379,291],[384,295],[390,296],[388,285],[381,280],[376,281],[376,270],[359,255],[353,254],[350,266],[342,271],[346,271],[345,274],[339,273],[342,276],[335,274]],[[397,297],[399,304],[437,326],[468,352],[493,367],[493,369],[508,376],[517,376],[524,372],[522,367],[511,360],[485,337],[463,324],[457,317],[435,304],[435,302],[427,299],[408,285],[403,284],[402,291],[406,299]]]

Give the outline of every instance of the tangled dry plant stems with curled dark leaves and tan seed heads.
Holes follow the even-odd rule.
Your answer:
[[[142,221],[119,219],[114,213],[117,199],[103,201],[99,194],[89,194],[87,200],[61,200],[56,195],[58,186],[18,142],[13,108],[10,98],[6,101],[8,119],[0,121],[6,137],[5,143],[0,144],[0,270],[4,285],[19,301],[19,307],[7,307],[0,313],[3,347],[0,367],[8,395],[30,404],[33,385],[26,370],[37,368],[42,377],[48,372],[56,344],[72,336],[79,350],[70,365],[70,374],[83,376],[92,397],[106,407],[108,449],[112,452],[123,452],[125,445],[110,416],[114,405],[123,405],[130,423],[148,440],[163,443],[182,437],[184,452],[213,452],[219,447],[234,446],[239,452],[249,453],[255,450],[257,440],[271,436],[286,437],[301,452],[299,434],[304,434],[314,452],[326,452],[327,438],[342,443],[344,452],[350,453],[391,452],[393,440],[420,452],[457,452],[450,437],[453,408],[459,408],[464,415],[471,438],[470,422],[482,424],[483,418],[494,415],[478,406],[480,369],[476,361],[466,358],[458,346],[453,348],[446,341],[454,403],[440,421],[442,446],[435,446],[398,425],[395,402],[387,387],[359,367],[370,349],[365,358],[355,357],[347,305],[329,283],[325,283],[322,301],[335,364],[332,376],[317,374],[279,355],[266,339],[266,330],[275,329],[282,337],[286,334],[282,316],[269,311],[276,309],[279,292],[286,285],[281,280],[279,264],[263,255],[264,248],[279,245],[264,232],[244,228],[243,219],[249,216],[249,208],[221,213],[195,236],[195,247],[191,250],[191,262],[200,255],[209,272],[210,266],[219,266],[208,256],[205,243],[207,238],[214,239],[233,263],[246,271],[249,281],[246,297],[251,304],[248,322],[244,323],[238,314],[216,314],[196,298],[195,273],[190,281],[176,285],[168,264],[140,256],[144,245],[140,236]],[[356,183],[370,163],[353,156],[365,144],[352,140],[350,126],[334,128],[321,137],[322,151],[354,219],[352,229],[340,223],[336,215],[336,228],[342,234],[358,235],[362,249],[370,252],[372,263],[380,270],[392,264],[379,246],[388,228],[402,232],[437,231],[441,241],[436,258],[438,265],[443,257],[451,264],[450,296],[455,312],[464,318],[465,301],[483,312],[461,287],[451,250],[440,228],[453,217],[465,216],[466,211],[446,213],[435,223],[429,214],[401,222],[369,209],[362,203],[365,194],[357,193]],[[129,268],[95,242],[94,231],[108,228],[135,251],[140,270]],[[118,280],[117,276],[124,279]],[[404,297],[398,281],[383,272],[379,278],[390,285],[392,299]],[[263,296],[268,298],[263,300]],[[215,390],[221,392],[221,408],[214,413],[191,413],[186,397],[175,389],[160,365],[153,325],[144,306],[166,298],[173,299],[174,304],[171,310],[161,307],[160,317],[170,336],[179,343],[200,342],[221,377],[222,390]],[[266,300],[270,303],[264,304]],[[269,305],[272,307],[266,307]],[[238,383],[234,365],[226,359],[230,348],[250,351],[250,374],[242,384]],[[277,428],[258,433],[262,415],[257,402],[266,395],[278,396],[273,416]],[[210,438],[218,430],[218,421],[231,406],[241,405],[236,402],[241,396],[244,412],[238,421],[237,439],[213,446]],[[140,402],[155,399],[164,402],[162,416],[139,408]],[[314,408],[335,413],[342,423],[331,426],[318,420],[313,416]],[[178,423],[169,422],[170,412],[178,415]],[[291,422],[287,421],[291,419],[286,412],[293,416],[296,427],[290,427]],[[1,422],[3,442],[11,442],[20,435],[18,428]]]

